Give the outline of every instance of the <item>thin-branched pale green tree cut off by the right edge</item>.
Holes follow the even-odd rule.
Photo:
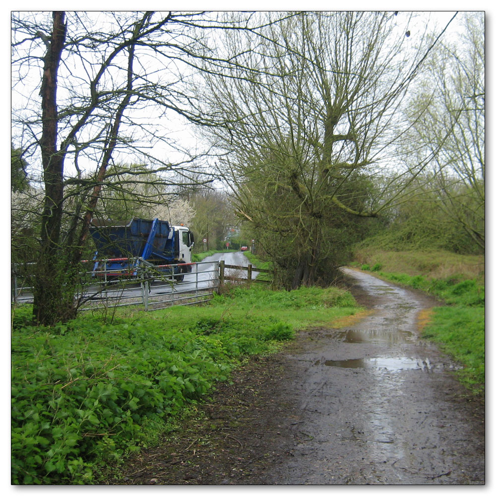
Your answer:
[[[413,99],[407,149],[410,160],[432,156],[429,189],[437,193],[433,201],[445,222],[467,233],[484,251],[484,12],[465,12],[461,28],[456,42],[437,47],[431,70]]]

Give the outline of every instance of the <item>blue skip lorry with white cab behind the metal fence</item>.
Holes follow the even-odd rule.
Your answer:
[[[174,274],[182,281],[191,272],[193,233],[165,220],[133,218],[127,224],[93,219],[90,234],[96,245],[93,272],[101,278],[132,278],[139,267],[153,274]]]

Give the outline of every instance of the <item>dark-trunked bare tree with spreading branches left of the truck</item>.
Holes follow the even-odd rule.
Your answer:
[[[23,11],[11,19],[12,141],[44,192],[34,317],[53,324],[77,310],[75,274],[91,219],[102,189],[119,187],[110,166],[144,163],[165,185],[197,182],[208,150],[170,131],[224,121],[199,111],[188,81],[238,66],[237,53],[212,56],[216,31],[257,26],[249,13],[237,22],[151,11]]]

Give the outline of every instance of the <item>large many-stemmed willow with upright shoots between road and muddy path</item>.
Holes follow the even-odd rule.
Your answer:
[[[226,153],[219,168],[238,214],[267,251],[284,253],[273,259],[291,268],[292,287],[328,278],[342,261],[332,247],[363,227],[352,219],[376,217],[405,174],[425,167],[399,173],[393,147],[410,125],[405,95],[436,43],[412,17],[304,12],[268,22],[262,40],[227,33],[222,46],[244,54],[236,77],[205,77],[207,108],[235,123],[209,136]]]

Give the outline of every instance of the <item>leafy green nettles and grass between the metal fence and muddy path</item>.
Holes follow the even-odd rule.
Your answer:
[[[311,312],[309,310],[312,310]],[[87,313],[52,327],[12,315],[12,483],[87,484],[158,441],[252,354],[359,309],[337,288],[233,288],[204,306]],[[127,313],[126,313],[127,312]]]

